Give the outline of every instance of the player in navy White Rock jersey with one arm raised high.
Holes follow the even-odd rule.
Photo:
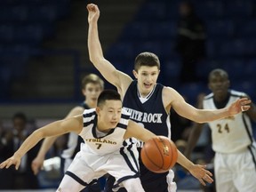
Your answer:
[[[249,108],[247,104],[250,103],[250,100],[247,99],[236,100],[229,108],[216,110],[194,108],[182,98],[180,93],[171,87],[156,84],[160,72],[160,62],[156,54],[151,52],[142,52],[136,57],[133,70],[136,80],[132,80],[130,76],[117,70],[104,58],[98,34],[100,10],[96,4],[88,4],[87,10],[89,12],[88,49],[92,64],[110,84],[116,86],[124,101],[124,108],[132,114],[132,120],[147,127],[151,132],[171,138],[171,123],[169,121],[171,108],[180,116],[199,123],[236,115],[242,111],[241,108],[243,110]],[[139,145],[138,149],[140,151],[142,143],[137,143],[136,140],[132,140],[132,142],[133,146]],[[135,153],[135,151],[132,152]],[[180,156],[178,157],[178,163],[183,166],[183,160],[186,161],[186,158],[183,158],[184,156],[180,152],[178,156]],[[191,163],[191,167],[186,169],[191,172],[195,166],[196,164]],[[195,172],[191,173],[196,177]],[[165,173],[149,172],[140,161],[140,180],[145,191],[176,191],[176,184],[172,179],[172,170]],[[197,179],[204,184],[204,178]],[[109,189],[108,186],[106,188]]]

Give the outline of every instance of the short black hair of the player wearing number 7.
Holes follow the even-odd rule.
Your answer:
[[[97,106],[100,107],[104,105],[106,100],[121,100],[121,96],[115,90],[104,90],[100,92],[100,95],[97,100]]]

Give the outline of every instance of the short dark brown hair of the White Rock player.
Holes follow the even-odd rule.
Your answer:
[[[141,52],[134,61],[134,70],[138,72],[141,66],[157,67],[160,70],[160,61],[153,52]]]

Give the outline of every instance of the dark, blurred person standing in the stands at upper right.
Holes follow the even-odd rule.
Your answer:
[[[204,22],[197,17],[193,4],[180,4],[180,20],[175,51],[180,54],[180,82],[195,82],[196,63],[205,57],[206,31]]]

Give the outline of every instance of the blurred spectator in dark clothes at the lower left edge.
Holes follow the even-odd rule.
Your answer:
[[[28,120],[23,113],[16,113],[12,117],[12,130],[4,130],[1,133],[0,159],[9,158],[20,147],[21,143],[28,137]],[[20,163],[18,171],[12,169],[3,169],[0,171],[1,189],[28,189],[38,188],[37,177],[33,174],[30,164],[36,157],[38,145],[24,156]]]

